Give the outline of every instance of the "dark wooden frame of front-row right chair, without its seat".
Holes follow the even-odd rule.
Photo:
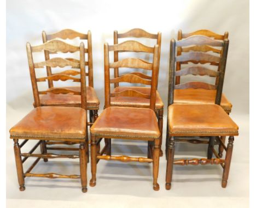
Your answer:
[[[202,52],[191,52],[188,55],[182,55],[182,56],[175,56],[176,54],[176,47],[184,47],[189,45],[199,45],[199,46],[205,46],[212,47],[212,46],[219,46],[223,47],[222,53],[220,57],[212,56],[211,54],[206,54]],[[225,39],[224,41],[218,41],[210,39],[206,36],[202,35],[194,35],[190,36],[189,38],[175,41],[174,39],[171,40],[171,50],[170,50],[170,69],[169,69],[169,86],[168,86],[168,106],[172,105],[173,103],[173,97],[174,97],[174,89],[177,88],[187,88],[191,85],[194,85],[194,87],[197,88],[205,88],[205,89],[212,89],[213,87],[217,89],[216,94],[216,100],[215,104],[220,105],[220,100],[222,96],[222,89],[223,89],[223,82],[224,82],[224,74],[225,74],[225,66],[226,66],[226,58],[228,55],[228,46],[229,46],[229,40]],[[183,61],[191,61],[195,60],[196,62],[200,63],[211,63],[216,62],[218,58],[218,71],[216,76],[218,76],[216,85],[210,85],[210,84],[201,84],[198,82],[190,82],[191,84],[174,84],[176,76],[183,75],[183,72],[186,72],[186,74],[196,74],[196,75],[212,75],[214,71],[207,70],[206,68],[201,68],[197,70],[191,70],[189,68],[183,69],[181,71],[175,70],[175,64],[176,62],[183,62]],[[176,65],[177,66],[177,65]],[[237,133],[238,134],[238,133]],[[237,135],[236,134],[236,135]],[[228,175],[229,175],[229,168],[231,163],[231,155],[232,155],[232,148],[233,148],[233,142],[234,142],[234,135],[229,136],[229,143],[228,146],[225,146],[223,143],[221,137],[212,135],[207,136],[205,138],[209,138],[209,142],[203,141],[200,139],[195,139],[193,137],[190,141],[188,141],[187,137],[183,136],[173,136],[169,134],[168,131],[168,121],[167,121],[167,143],[166,148],[167,151],[167,168],[166,168],[166,189],[171,189],[171,180],[172,180],[172,171],[173,171],[173,164],[176,165],[199,165],[199,164],[220,164],[223,168],[223,177],[222,177],[222,187],[225,188],[227,181],[228,181]],[[202,138],[202,137],[200,137]],[[214,140],[217,140],[220,145],[223,146],[223,149],[226,151],[225,160],[219,157],[218,153],[214,149]],[[174,143],[175,142],[189,142],[191,144],[209,144],[208,145],[208,158],[201,158],[201,159],[192,159],[192,160],[174,160]],[[211,158],[212,154],[216,156],[216,158]]]

